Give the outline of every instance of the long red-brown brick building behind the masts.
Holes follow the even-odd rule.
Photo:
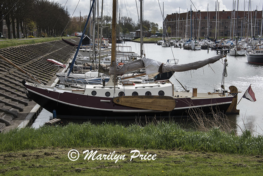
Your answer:
[[[192,16],[192,37],[215,37],[215,28],[216,28],[216,12],[200,12],[195,11],[191,13]],[[247,36],[247,29],[249,29],[249,36],[251,36],[251,16],[252,16],[252,33],[253,36],[260,35],[261,29],[261,16],[262,11],[220,11],[217,12],[217,37],[230,37],[237,35]],[[236,18],[238,18],[238,24],[236,25]],[[249,19],[248,19],[249,18]],[[234,28],[233,28],[234,22]],[[249,27],[247,23],[249,22]],[[187,23],[187,31],[186,31]],[[200,32],[199,32],[200,24]],[[168,34],[170,37],[185,37],[187,32],[187,37],[191,36],[190,34],[190,11],[186,13],[172,13],[168,14],[164,20],[166,29],[171,28],[171,32]],[[237,32],[236,32],[237,26]],[[199,35],[198,35],[199,33]],[[236,34],[237,33],[237,34]],[[208,34],[208,35],[207,35]]]

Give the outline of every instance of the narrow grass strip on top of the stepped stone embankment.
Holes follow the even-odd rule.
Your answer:
[[[19,46],[19,45],[27,45],[27,44],[34,44],[34,43],[43,43],[43,42],[50,42],[55,40],[61,40],[62,37],[49,37],[49,38],[36,38],[36,39],[7,39],[0,41],[0,49],[11,47],[11,46]],[[75,38],[75,37],[63,37],[63,38]]]

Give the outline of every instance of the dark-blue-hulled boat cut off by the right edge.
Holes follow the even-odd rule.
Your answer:
[[[263,44],[257,45],[256,49],[246,53],[247,62],[263,64]]]

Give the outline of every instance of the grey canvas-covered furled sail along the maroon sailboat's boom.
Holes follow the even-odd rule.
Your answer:
[[[151,78],[158,75],[160,72],[165,73],[169,71],[182,72],[188,70],[196,70],[205,65],[208,65],[209,63],[214,63],[223,57],[224,55],[217,55],[205,60],[181,64],[181,65],[162,64],[159,61],[144,57],[142,59],[137,59],[135,61],[125,63],[123,65],[117,65],[117,63],[115,63],[115,73],[114,73],[114,64],[113,64],[110,67],[109,74],[123,75],[127,72],[145,68],[146,75],[148,75]]]

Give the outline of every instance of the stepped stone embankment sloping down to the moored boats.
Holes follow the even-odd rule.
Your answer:
[[[58,72],[58,66],[47,62],[47,59],[66,63],[74,52],[75,48],[62,40],[0,49],[2,56],[45,85],[49,85]],[[23,80],[32,82],[25,74],[0,59],[0,132],[15,123],[13,121],[20,120],[14,124],[14,128],[18,126],[36,105],[28,100]]]

